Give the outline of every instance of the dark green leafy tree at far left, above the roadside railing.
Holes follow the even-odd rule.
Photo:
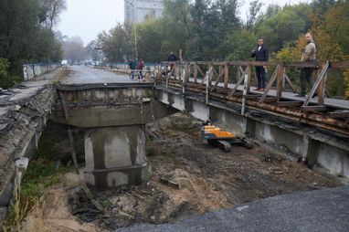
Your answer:
[[[25,62],[57,61],[62,56],[52,26],[64,8],[43,14],[47,12],[43,10],[45,2],[48,1],[0,1],[0,58],[8,62],[10,79],[22,76]],[[52,0],[51,3],[65,3],[65,0]],[[44,22],[48,21],[49,26],[45,26]]]

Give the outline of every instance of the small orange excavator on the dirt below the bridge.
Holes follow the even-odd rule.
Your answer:
[[[216,146],[226,153],[231,151],[232,144],[242,145],[248,149],[253,143],[246,138],[238,138],[234,133],[227,132],[206,121],[201,129],[201,138],[205,143]]]

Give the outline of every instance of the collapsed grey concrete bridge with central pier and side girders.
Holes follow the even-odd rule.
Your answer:
[[[333,174],[349,176],[346,102],[338,120],[309,112],[307,107],[305,111],[285,110],[282,105],[299,105],[281,98],[281,94],[288,93],[278,96],[277,90],[274,97],[268,92],[261,96],[249,89],[247,94],[245,88],[243,94],[239,86],[242,80],[232,87],[223,81],[224,87],[220,87],[219,78],[227,74],[226,68],[216,72],[217,84],[210,83],[214,69],[207,69],[201,79],[197,77],[199,69],[192,69],[194,75],[190,75],[186,65],[178,67],[177,74],[165,76],[160,69],[154,69],[154,82],[134,82],[125,75],[105,70],[72,70],[60,84],[53,85],[54,75],[48,74],[2,96],[1,210],[8,206],[14,178],[22,173],[27,157],[36,149],[48,118],[84,131],[84,177],[94,188],[140,184],[146,180],[149,170],[143,125],[174,111],[187,111],[203,121],[210,119],[291,159],[301,157],[311,166],[319,165]],[[238,81],[246,76],[249,79],[249,70],[240,71]],[[224,94],[228,98],[222,97]],[[260,97],[265,102],[260,103]],[[312,106],[312,110],[320,108]],[[333,108],[337,106],[334,104]]]

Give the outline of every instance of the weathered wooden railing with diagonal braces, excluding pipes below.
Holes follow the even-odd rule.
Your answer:
[[[249,95],[250,87],[252,86],[252,67],[266,66],[273,68],[274,71],[270,77],[266,89],[264,90],[259,103],[263,103],[267,98],[270,89],[275,85],[276,98],[275,101],[281,101],[281,94],[283,90],[286,90],[288,84],[293,92],[297,92],[295,85],[287,74],[287,69],[294,68],[314,68],[317,70],[317,78],[314,81],[312,90],[302,105],[302,111],[323,111],[324,110],[324,97],[326,94],[326,79],[329,69],[349,69],[349,61],[342,62],[261,62],[261,61],[229,61],[229,62],[163,62],[159,70],[164,67],[172,66],[168,77],[176,80],[183,81],[183,88],[187,82],[198,83],[201,80],[201,84],[206,83],[209,92],[217,90],[218,84],[223,83],[223,89],[228,89],[228,84],[234,84],[235,87],[227,94],[227,98],[233,96],[240,85],[243,85],[244,77],[247,75],[247,94]],[[232,69],[233,68],[233,69]],[[236,72],[232,73],[234,70]],[[159,71],[161,73],[161,71]],[[161,76],[157,76],[160,78]],[[192,79],[190,79],[192,78]],[[212,83],[215,82],[213,85]],[[317,106],[310,106],[310,100],[314,96],[315,92],[318,95]],[[280,102],[281,104],[281,102]],[[294,102],[282,102],[282,104],[294,104]]]

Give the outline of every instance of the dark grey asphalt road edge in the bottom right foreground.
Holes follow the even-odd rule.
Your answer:
[[[278,195],[192,216],[174,224],[141,224],[116,232],[348,232],[349,185]]]

